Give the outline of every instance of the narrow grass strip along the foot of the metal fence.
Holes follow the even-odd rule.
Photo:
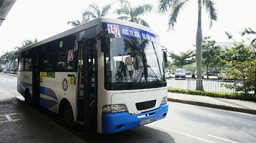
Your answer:
[[[237,99],[237,100],[245,100],[245,101],[254,101],[256,102],[255,94],[247,93],[237,93],[234,95],[233,93],[225,93],[225,92],[207,92],[207,91],[199,91],[199,90],[186,90],[186,89],[176,89],[176,88],[168,88],[168,92],[173,93],[182,93],[182,94],[192,94],[192,95],[201,95],[201,96],[210,96],[210,97],[219,97],[219,98],[228,98],[228,99]]]

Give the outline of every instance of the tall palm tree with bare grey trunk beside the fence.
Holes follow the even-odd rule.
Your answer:
[[[177,22],[178,13],[182,7],[188,3],[189,0],[159,0],[158,12],[166,13],[170,9],[170,15],[168,20],[169,30],[174,29],[174,24]],[[217,12],[215,9],[215,3],[212,0],[197,0],[198,3],[198,20],[197,20],[197,32],[196,32],[196,78],[199,79],[196,82],[196,90],[203,90],[202,84],[202,24],[201,13],[202,6],[206,8],[206,11],[210,18],[210,28],[212,22],[217,21]]]

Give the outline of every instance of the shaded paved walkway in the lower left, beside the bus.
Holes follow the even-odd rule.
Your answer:
[[[0,94],[1,96],[1,94]],[[83,143],[15,97],[0,100],[0,143]]]

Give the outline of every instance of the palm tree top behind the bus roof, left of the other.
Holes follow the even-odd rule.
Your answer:
[[[79,20],[72,20],[68,21],[68,24],[71,24],[72,26],[78,26],[82,23],[88,22],[92,19],[98,18],[98,17],[104,17],[108,14],[109,9],[111,8],[112,4],[107,4],[103,6],[102,10],[99,9],[97,4],[90,4],[87,9],[84,9],[83,12],[83,19],[80,22]]]

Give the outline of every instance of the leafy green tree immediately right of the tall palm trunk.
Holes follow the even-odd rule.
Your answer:
[[[202,44],[202,62],[203,65],[206,66],[206,71],[208,71],[209,66],[214,66],[216,63],[220,62],[220,53],[221,53],[221,47],[216,46],[215,40],[210,40],[210,36],[203,38],[203,44]],[[207,78],[209,78],[208,72]]]

